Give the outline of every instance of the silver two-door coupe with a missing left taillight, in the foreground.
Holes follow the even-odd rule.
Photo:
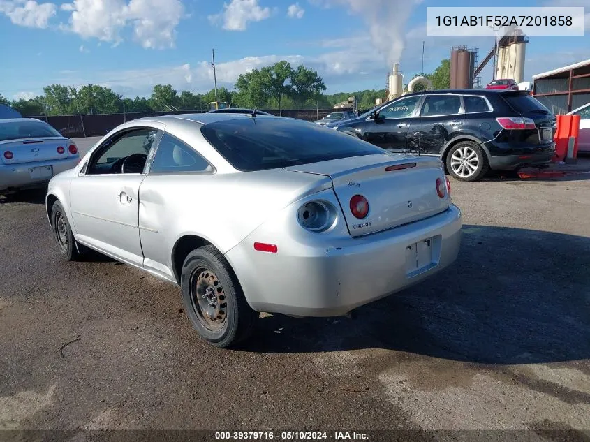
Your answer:
[[[255,112],[122,124],[46,203],[64,258],[94,249],[177,284],[220,347],[260,311],[338,316],[431,277],[462,227],[440,160]]]

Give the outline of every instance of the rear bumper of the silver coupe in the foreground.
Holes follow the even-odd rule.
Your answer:
[[[306,246],[297,256],[281,250],[260,253],[250,238],[226,253],[246,300],[256,311],[293,316],[338,316],[431,277],[457,258],[462,216],[445,212],[364,237],[341,238],[330,246]],[[431,240],[429,258],[415,259],[412,244]],[[414,253],[414,254],[413,254]]]

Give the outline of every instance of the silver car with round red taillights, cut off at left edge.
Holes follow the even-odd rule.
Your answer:
[[[0,193],[44,186],[79,161],[75,143],[45,121],[0,119]]]

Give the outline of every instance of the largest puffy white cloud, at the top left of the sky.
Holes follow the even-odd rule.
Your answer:
[[[133,40],[152,49],[174,46],[175,28],[184,15],[180,0],[74,0],[61,10],[71,12],[69,24],[61,28],[82,38],[119,45],[121,31],[131,27]]]

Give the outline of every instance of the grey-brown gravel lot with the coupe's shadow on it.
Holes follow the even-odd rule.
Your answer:
[[[452,196],[448,272],[352,319],[265,316],[233,351],[174,286],[60,260],[43,193],[0,199],[0,429],[589,430],[589,174]]]

